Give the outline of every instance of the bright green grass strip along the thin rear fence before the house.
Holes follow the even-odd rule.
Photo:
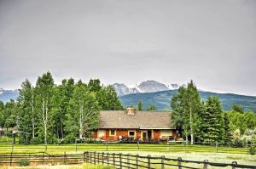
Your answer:
[[[64,154],[75,151],[106,151],[106,144],[65,144],[65,145],[53,145],[47,146],[44,144],[15,144],[14,153],[40,153],[48,152],[49,154]],[[108,144],[108,151],[137,151],[137,144]],[[12,151],[12,144],[0,144],[0,154],[10,153]],[[139,144],[139,151],[147,152],[162,152],[162,153],[174,153],[174,152],[199,152],[199,153],[216,153],[217,149],[214,146],[207,145],[186,145],[182,144]],[[218,147],[218,153],[228,154],[248,154],[247,148],[230,148],[230,147]]]

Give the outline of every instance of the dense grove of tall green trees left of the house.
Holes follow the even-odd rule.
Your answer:
[[[73,78],[56,85],[47,72],[38,76],[35,87],[27,79],[22,82],[16,100],[0,101],[0,126],[16,127],[23,143],[73,143],[98,127],[100,110],[123,110],[112,86]]]

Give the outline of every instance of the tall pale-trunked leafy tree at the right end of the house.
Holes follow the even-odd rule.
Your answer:
[[[190,134],[191,144],[193,144],[202,108],[201,97],[193,81],[189,82],[187,87],[179,87],[177,93],[172,96],[171,107],[172,121],[177,127],[182,127],[187,141]]]

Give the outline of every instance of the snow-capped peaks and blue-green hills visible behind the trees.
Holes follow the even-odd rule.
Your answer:
[[[155,81],[141,82],[135,87],[127,87],[123,83],[114,83],[113,87],[119,94],[122,104],[127,107],[137,106],[139,101],[143,102],[143,109],[147,109],[150,104],[154,104],[157,110],[171,110],[170,100],[177,88],[183,84],[166,85]],[[244,96],[233,93],[212,93],[199,90],[201,98],[206,100],[210,95],[218,96],[222,102],[224,110],[231,110],[232,104],[240,104],[244,110],[253,110],[256,112],[256,96]],[[0,100],[4,103],[9,99],[16,99],[19,95],[18,90],[4,90],[0,88]]]

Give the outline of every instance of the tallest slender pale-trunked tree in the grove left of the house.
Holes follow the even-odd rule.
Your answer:
[[[37,107],[38,107],[38,115],[41,119],[40,124],[40,136],[43,132],[44,144],[47,144],[47,137],[51,132],[48,132],[49,126],[52,123],[52,98],[54,94],[54,79],[49,73],[49,71],[43,76],[38,77],[37,85],[36,85],[36,93],[37,93]]]

